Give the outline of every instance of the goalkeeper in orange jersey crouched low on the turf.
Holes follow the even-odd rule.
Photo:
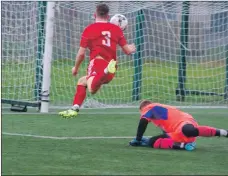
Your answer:
[[[201,126],[196,120],[173,106],[153,103],[148,100],[141,102],[139,107],[141,118],[138,125],[136,138],[129,144],[131,146],[149,146],[161,149],[186,149],[194,150],[198,136],[228,137],[228,130],[216,129],[209,126]],[[161,135],[144,138],[143,134],[148,122],[160,127],[164,132]]]

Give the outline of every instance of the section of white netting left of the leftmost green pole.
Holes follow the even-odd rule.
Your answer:
[[[2,98],[35,101],[37,3],[2,2]]]

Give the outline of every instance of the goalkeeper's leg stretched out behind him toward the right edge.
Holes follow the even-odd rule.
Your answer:
[[[213,137],[224,136],[228,137],[228,131],[224,129],[217,129],[210,126],[195,126],[194,124],[185,124],[182,127],[182,133],[186,137]]]

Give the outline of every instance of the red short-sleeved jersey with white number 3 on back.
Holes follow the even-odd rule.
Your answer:
[[[117,44],[127,44],[123,31],[117,25],[96,22],[85,28],[82,33],[80,46],[89,48],[90,60],[100,55],[108,62],[116,60]]]

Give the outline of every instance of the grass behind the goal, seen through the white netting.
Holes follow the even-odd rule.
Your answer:
[[[27,61],[28,62],[28,61]],[[69,105],[75,93],[77,79],[86,74],[87,63],[83,63],[79,75],[74,78],[72,59],[57,59],[52,62],[50,99],[54,105]],[[16,100],[35,100],[35,63],[6,62],[2,67],[2,97]],[[132,102],[134,66],[133,61],[123,60],[119,64],[115,79],[105,85],[93,98],[103,103],[123,104]],[[17,85],[17,86],[15,86]],[[176,103],[178,85],[177,61],[144,61],[142,66],[141,98],[161,103]],[[186,89],[224,93],[225,62],[188,63]],[[91,95],[88,94],[88,98]],[[223,96],[188,95],[185,105],[225,104]],[[183,104],[182,104],[183,105]]]

